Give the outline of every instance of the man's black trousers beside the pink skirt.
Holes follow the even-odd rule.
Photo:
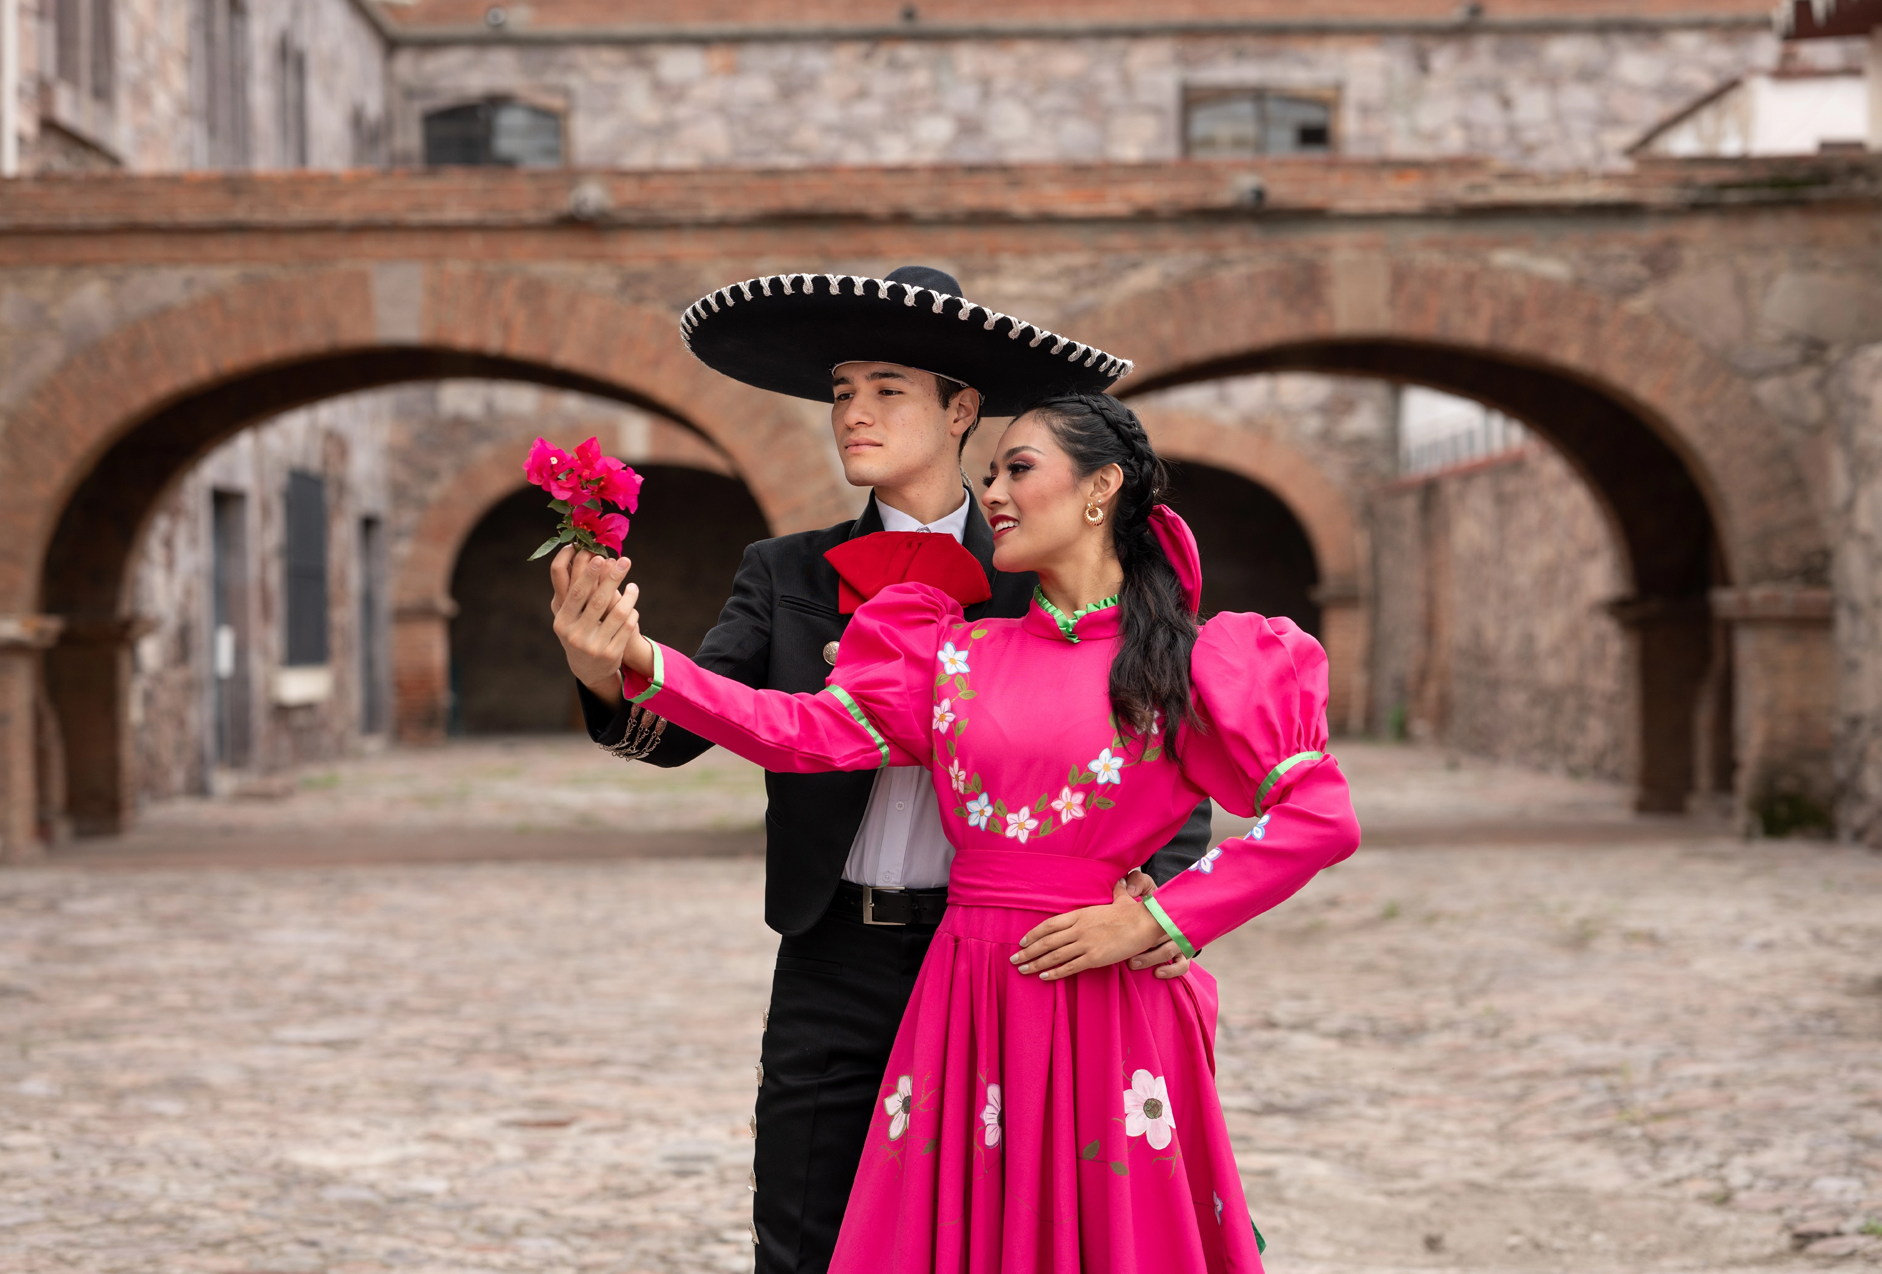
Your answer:
[[[826,915],[777,945],[758,1084],[757,1274],[824,1274],[933,926]]]

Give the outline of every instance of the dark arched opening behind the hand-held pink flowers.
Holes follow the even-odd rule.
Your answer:
[[[627,555],[640,583],[647,636],[698,649],[732,591],[745,546],[770,536],[736,478],[668,465],[646,476]],[[550,629],[548,559],[527,561],[555,527],[534,487],[510,495],[476,525],[452,574],[454,732],[529,734],[580,728],[574,679]]]

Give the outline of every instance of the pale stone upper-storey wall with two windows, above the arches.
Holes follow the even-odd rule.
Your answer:
[[[566,115],[576,166],[1029,164],[1182,154],[1186,88],[1332,94],[1334,147],[1615,167],[1662,119],[1773,66],[1748,26],[1455,34],[457,43],[393,53],[393,162],[491,94]]]

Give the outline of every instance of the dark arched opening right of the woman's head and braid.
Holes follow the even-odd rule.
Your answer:
[[[1169,506],[1203,551],[1203,617],[1223,610],[1285,615],[1319,636],[1314,546],[1293,512],[1257,482],[1210,465],[1172,465]]]

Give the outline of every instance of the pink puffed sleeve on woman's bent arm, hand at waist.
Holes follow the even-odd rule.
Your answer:
[[[1291,619],[1216,615],[1189,657],[1197,726],[1184,775],[1225,809],[1261,815],[1146,905],[1195,954],[1359,849],[1346,775],[1327,755],[1327,651]]]

